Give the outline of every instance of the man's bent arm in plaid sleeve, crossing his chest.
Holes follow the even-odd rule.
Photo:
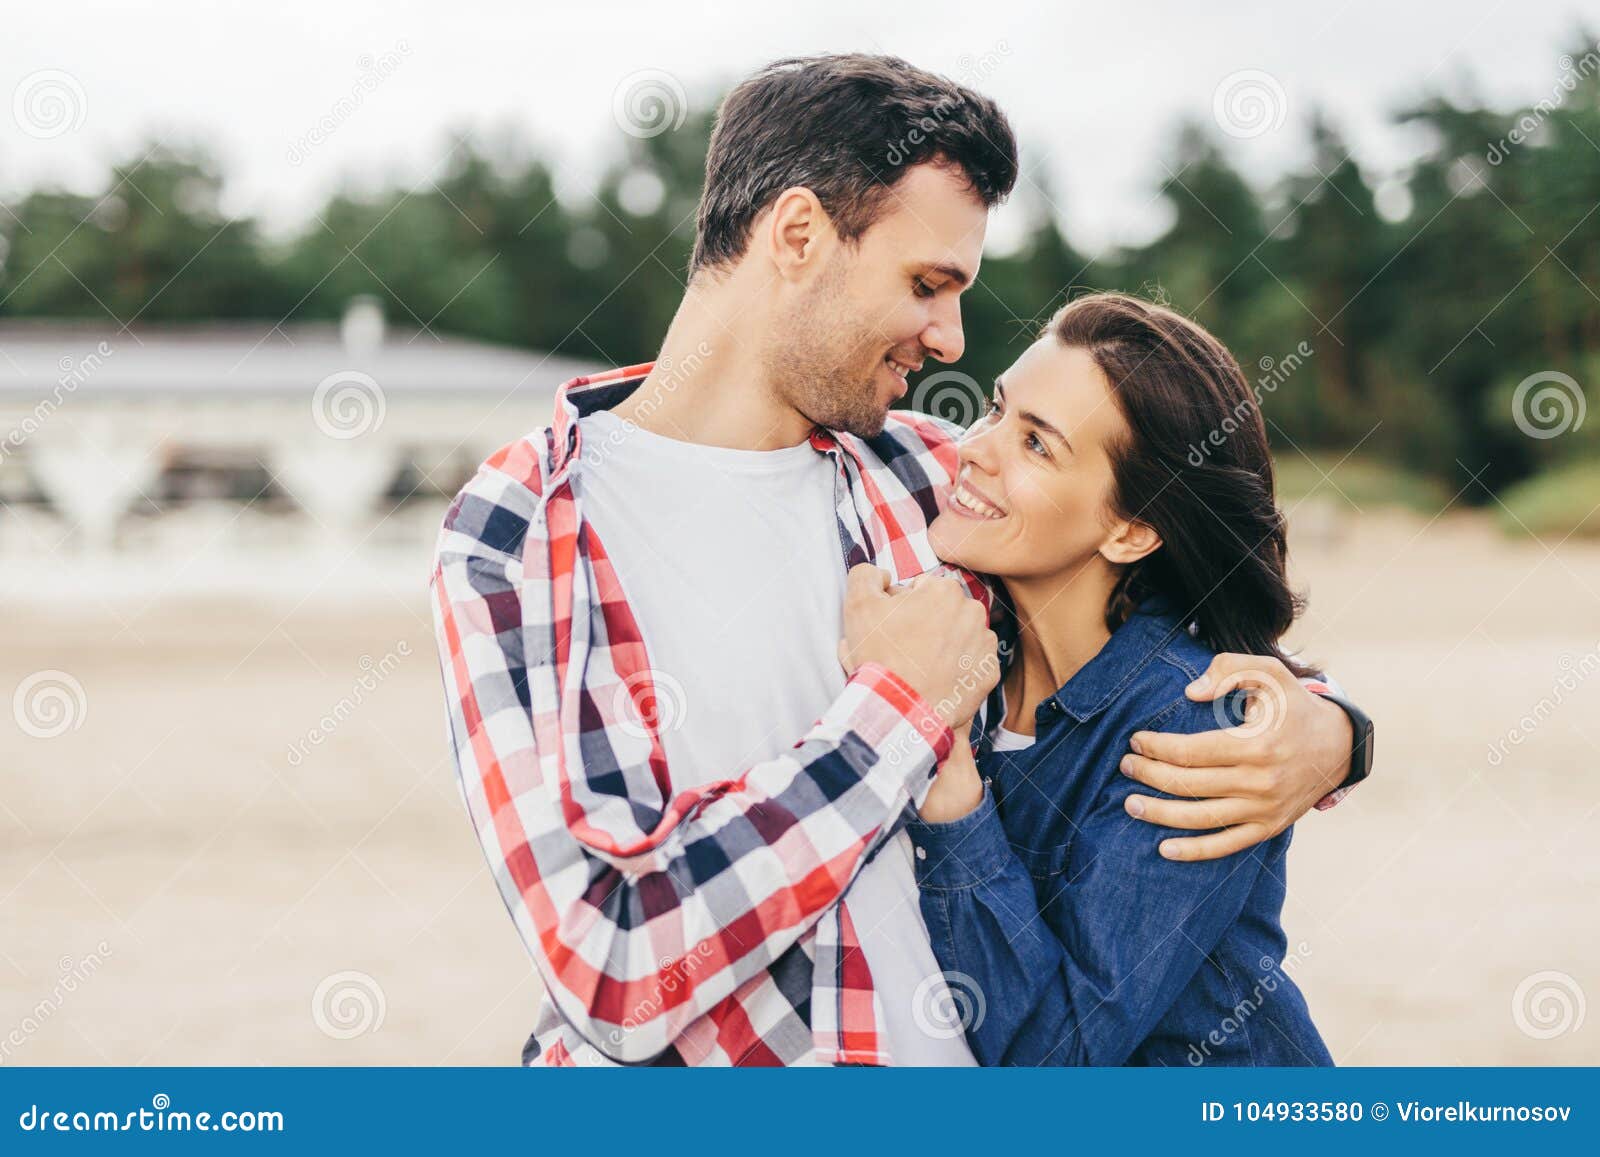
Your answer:
[[[930,621],[962,626],[912,640],[901,679],[875,658],[906,632],[880,624],[795,747],[674,792],[648,728],[621,727],[638,688],[590,677],[587,623],[549,621],[539,514],[538,494],[486,466],[446,515],[432,594],[451,747],[496,883],[562,1015],[605,1056],[646,1061],[792,947],[925,795],[952,733],[918,683],[938,685],[946,666],[954,683],[965,637],[987,632],[976,605],[952,616],[970,603],[954,583],[893,597],[912,621],[933,600]],[[606,576],[597,563],[597,581]],[[611,648],[630,645],[606,631]],[[933,675],[914,671],[918,655],[936,656]]]

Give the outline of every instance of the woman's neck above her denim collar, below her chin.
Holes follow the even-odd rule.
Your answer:
[[[1005,679],[1005,727],[1034,735],[1038,704],[1061,690],[1110,639],[1106,603],[1117,571],[1098,554],[1067,574],[1006,579],[1018,619],[1018,655]]]

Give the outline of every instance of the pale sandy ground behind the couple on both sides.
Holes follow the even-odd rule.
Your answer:
[[[192,602],[61,563],[3,602],[0,690],[75,687],[0,727],[0,1063],[515,1063],[538,984],[450,768],[426,549],[382,565]],[[1600,1063],[1600,547],[1309,507],[1296,568],[1296,642],[1381,727],[1291,853],[1336,1059]]]

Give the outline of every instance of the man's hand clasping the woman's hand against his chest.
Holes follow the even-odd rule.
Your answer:
[[[954,574],[890,587],[888,571],[850,568],[838,663],[878,663],[910,683],[950,727],[978,714],[1000,679],[1000,640],[982,603]]]

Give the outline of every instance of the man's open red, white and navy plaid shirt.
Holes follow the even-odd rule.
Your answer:
[[[566,382],[554,424],[490,456],[438,534],[430,587],[456,771],[544,981],[525,1061],[888,1064],[840,898],[954,736],[867,664],[790,751],[674,791],[638,624],[582,518],[581,466],[600,454],[584,454],[578,419],[650,370]],[[928,523],[954,485],[958,434],[914,413],[891,413],[875,438],[813,430],[837,467],[846,568],[870,562],[896,583],[941,568]]]

